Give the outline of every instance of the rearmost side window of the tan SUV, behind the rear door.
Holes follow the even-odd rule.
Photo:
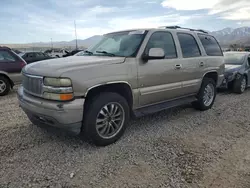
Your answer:
[[[222,50],[214,37],[202,34],[198,34],[198,36],[208,56],[223,56]]]

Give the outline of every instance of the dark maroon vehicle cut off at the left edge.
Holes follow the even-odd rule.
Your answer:
[[[10,48],[0,47],[0,96],[7,95],[15,84],[21,83],[21,70],[26,65]]]

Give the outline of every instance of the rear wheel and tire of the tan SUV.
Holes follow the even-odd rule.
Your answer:
[[[204,98],[205,98],[206,93],[208,93],[208,91],[212,92],[211,94],[212,96],[207,94],[210,97],[208,97],[206,101]],[[197,101],[193,102],[192,104],[193,104],[193,107],[197,110],[200,110],[200,111],[209,110],[210,108],[212,108],[215,98],[216,98],[215,81],[211,78],[204,78],[201,84],[200,91],[197,95]]]

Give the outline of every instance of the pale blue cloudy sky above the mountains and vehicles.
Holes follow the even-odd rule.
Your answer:
[[[250,26],[250,0],[1,0],[0,43],[70,41],[132,29],[179,25]]]

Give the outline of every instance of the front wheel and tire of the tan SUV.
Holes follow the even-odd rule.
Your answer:
[[[113,113],[111,113],[112,110],[110,109],[112,109],[112,106],[110,105],[113,105]],[[107,107],[106,109],[109,109],[110,114],[113,114],[112,117],[115,124],[112,121],[112,117],[105,118],[103,115],[104,113],[107,115],[107,111],[104,107]],[[117,116],[119,114],[117,111],[120,111],[122,115]],[[82,137],[96,146],[107,146],[115,143],[124,134],[127,122],[130,118],[129,114],[129,106],[125,98],[117,93],[101,93],[87,103],[83,118]],[[122,120],[115,120],[118,117]],[[97,123],[97,120],[100,121],[100,124]],[[120,126],[118,126],[118,124]],[[99,129],[97,128],[98,125]],[[113,135],[111,135],[112,131]],[[105,133],[107,135],[105,135]],[[108,136],[109,133],[110,135]]]

